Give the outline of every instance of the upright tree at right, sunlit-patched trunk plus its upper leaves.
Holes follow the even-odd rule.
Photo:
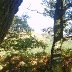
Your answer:
[[[54,40],[51,49],[50,72],[63,72],[61,58],[63,28],[65,26],[66,21],[71,19],[69,17],[65,19],[64,15],[66,10],[72,6],[72,2],[71,0],[50,0],[49,2],[47,0],[44,0],[44,2],[47,3],[47,6],[50,7],[50,9],[45,8],[46,13],[54,18]]]

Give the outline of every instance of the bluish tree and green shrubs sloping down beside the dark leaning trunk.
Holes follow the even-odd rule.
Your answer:
[[[47,45],[43,41],[38,41],[31,36],[31,28],[27,24],[27,15],[14,17],[13,24],[11,25],[7,36],[3,43],[0,45],[4,49],[24,49],[42,47]]]

